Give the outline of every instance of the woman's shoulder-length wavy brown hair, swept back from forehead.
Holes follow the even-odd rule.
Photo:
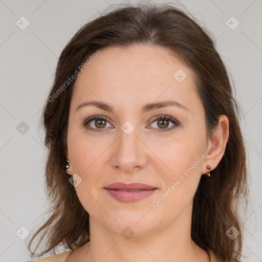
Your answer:
[[[243,228],[239,203],[247,205],[248,183],[246,152],[239,126],[240,106],[233,98],[229,76],[210,33],[194,17],[172,3],[118,5],[84,25],[63,49],[49,98],[42,115],[45,145],[48,147],[45,181],[52,206],[49,219],[30,239],[43,231],[36,247],[47,235],[45,250],[40,255],[63,247],[75,250],[90,240],[89,214],[78,200],[67,164],[67,130],[70,101],[75,80],[64,86],[79,65],[106,47],[127,48],[135,44],[168,49],[194,72],[195,88],[205,108],[205,123],[211,135],[219,116],[229,119],[229,139],[219,165],[211,177],[202,176],[194,195],[191,238],[202,249],[212,250],[219,260],[239,261]],[[232,84],[233,85],[233,84]],[[61,89],[61,86],[64,86]],[[81,221],[81,223],[79,223]],[[234,226],[239,235],[232,240],[227,230]],[[54,252],[53,252],[54,253]]]

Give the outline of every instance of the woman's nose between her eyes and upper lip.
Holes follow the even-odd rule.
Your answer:
[[[134,172],[146,165],[146,146],[138,137],[138,128],[135,127],[131,133],[125,132],[124,128],[123,130],[119,129],[119,137],[113,148],[113,166],[126,173]]]

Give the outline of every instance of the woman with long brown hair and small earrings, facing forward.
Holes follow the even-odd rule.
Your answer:
[[[29,243],[70,250],[34,261],[239,261],[238,114],[213,40],[171,4],[83,26],[43,111],[53,206]]]

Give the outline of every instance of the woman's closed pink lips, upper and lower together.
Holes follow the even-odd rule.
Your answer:
[[[106,186],[105,190],[111,195],[111,197],[115,198],[118,201],[132,203],[148,197],[149,195],[154,193],[157,188],[141,183],[114,183]]]

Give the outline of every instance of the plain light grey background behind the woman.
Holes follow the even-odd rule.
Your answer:
[[[165,1],[155,1],[161,2]],[[81,26],[116,3],[128,2],[0,0],[0,261],[30,259],[25,241],[16,232],[21,232],[21,226],[30,232],[38,228],[49,206],[43,187],[46,149],[38,123],[58,57]],[[181,3],[217,39],[217,49],[233,77],[236,98],[243,107],[241,125],[248,149],[251,200],[245,218],[243,254],[247,258],[243,261],[261,261],[262,1]],[[16,25],[21,16],[30,21],[25,30]],[[231,16],[240,23],[234,30],[226,25]],[[29,126],[25,134],[17,130],[22,121]]]

